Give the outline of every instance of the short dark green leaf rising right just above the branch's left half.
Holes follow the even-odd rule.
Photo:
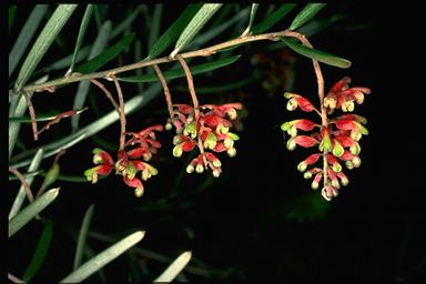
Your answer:
[[[126,47],[132,43],[134,40],[134,33],[124,36],[119,42],[114,45],[108,48],[98,57],[89,60],[81,65],[77,67],[75,70],[80,73],[90,73],[99,70],[101,67],[114,59],[120,52],[122,52]]]

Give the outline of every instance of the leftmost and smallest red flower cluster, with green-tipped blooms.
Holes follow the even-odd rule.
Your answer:
[[[153,154],[158,153],[158,149],[161,146],[160,142],[155,140],[154,131],[162,130],[163,126],[158,124],[140,132],[126,132],[125,134],[132,138],[124,145],[132,146],[132,149],[119,150],[116,162],[106,151],[95,148],[93,150],[93,163],[98,165],[87,170],[84,175],[92,183],[97,183],[99,175],[109,175],[115,169],[115,174],[122,175],[124,183],[134,187],[134,194],[138,197],[142,196],[142,181],[158,174],[156,169],[146,162],[151,160]],[[134,148],[134,145],[136,146]],[[141,172],[142,181],[136,176],[139,172]]]

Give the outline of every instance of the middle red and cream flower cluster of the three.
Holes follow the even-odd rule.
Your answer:
[[[174,115],[169,119],[166,129],[176,129],[173,138],[173,155],[179,158],[183,152],[190,152],[195,146],[200,154],[186,166],[186,172],[202,173],[204,170],[212,170],[213,176],[217,178],[222,172],[222,163],[212,152],[225,152],[234,156],[236,150],[234,141],[239,135],[230,132],[232,122],[236,118],[236,110],[241,110],[241,103],[226,103],[221,105],[204,104],[199,112],[187,104],[174,104]],[[212,152],[207,152],[211,150]]]

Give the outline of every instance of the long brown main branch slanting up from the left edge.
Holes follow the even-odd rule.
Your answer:
[[[270,33],[263,33],[263,34],[257,34],[257,36],[246,36],[243,38],[236,38],[236,39],[229,40],[229,41],[225,41],[222,43],[217,43],[217,44],[209,47],[209,48],[182,53],[181,55],[182,55],[182,58],[209,57],[209,55],[216,53],[220,50],[231,48],[234,45],[239,45],[239,44],[243,44],[246,42],[260,41],[260,40],[277,41],[282,37],[294,37],[294,36],[291,36],[292,33],[294,33],[294,32],[284,30],[284,31],[270,32]],[[59,79],[55,79],[55,80],[52,80],[52,81],[49,81],[45,83],[26,85],[21,90],[10,89],[9,95],[19,94],[22,90],[26,90],[27,92],[31,92],[31,91],[41,92],[44,90],[50,91],[50,90],[53,90],[52,89],[53,87],[58,87],[58,85],[80,82],[83,80],[108,78],[109,74],[111,74],[111,73],[119,74],[122,72],[126,72],[126,71],[131,71],[131,70],[135,70],[135,69],[140,69],[140,68],[145,68],[145,67],[150,67],[150,65],[154,65],[154,64],[172,62],[175,60],[176,60],[176,58],[171,58],[171,57],[163,57],[163,58],[158,58],[158,59],[144,59],[142,61],[139,61],[139,62],[135,62],[135,63],[132,63],[129,65],[119,67],[119,68],[114,68],[114,69],[110,69],[110,70],[105,70],[105,71],[100,71],[100,72],[94,72],[94,73],[90,73],[90,74],[71,73],[71,75],[69,75],[69,77],[59,78]]]

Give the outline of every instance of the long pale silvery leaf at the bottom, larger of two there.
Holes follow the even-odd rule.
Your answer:
[[[139,243],[143,239],[144,234],[145,232],[143,231],[138,231],[133,234],[130,234],[129,236],[111,245],[90,261],[82,264],[79,268],[74,270],[71,274],[61,280],[60,283],[75,283],[85,280],[94,272],[99,271],[108,263],[112,262],[114,258],[123,254],[130,247]]]

